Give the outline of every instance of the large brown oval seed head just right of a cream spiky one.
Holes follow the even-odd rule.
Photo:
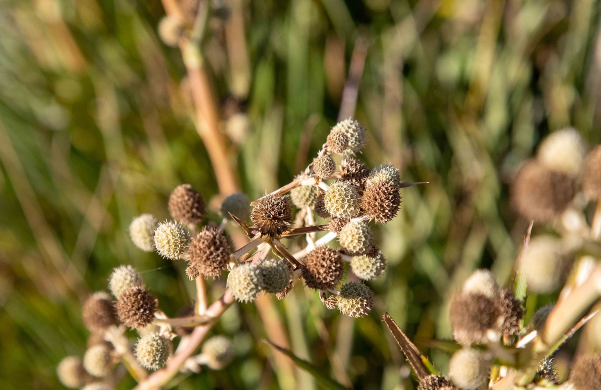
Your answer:
[[[220,278],[227,269],[231,249],[227,238],[215,227],[203,227],[188,249],[189,261],[198,272],[210,278]]]

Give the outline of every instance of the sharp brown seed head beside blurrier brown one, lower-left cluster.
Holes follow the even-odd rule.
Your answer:
[[[121,293],[115,305],[119,320],[130,328],[144,328],[154,319],[156,298],[144,288],[133,287]]]

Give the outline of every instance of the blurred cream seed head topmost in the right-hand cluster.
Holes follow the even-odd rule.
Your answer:
[[[538,147],[537,159],[553,171],[576,178],[587,147],[578,130],[569,127],[548,135]]]

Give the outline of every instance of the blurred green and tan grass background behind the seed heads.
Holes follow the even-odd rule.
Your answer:
[[[599,2],[213,2],[224,5],[201,49],[251,198],[290,181],[352,114],[339,112],[345,84],[368,129],[361,159],[430,181],[403,189],[400,216],[374,228],[389,268],[370,284],[372,315],[343,319],[300,284],[274,300],[291,349],[355,388],[409,389],[380,323],[389,311],[445,371],[447,355],[419,340],[451,338],[448,299],[475,268],[510,281],[525,230],[507,200],[516,166],[564,126],[601,141]],[[56,364],[88,336],[81,299],[118,264],[144,272],[168,315],[190,302],[182,262],[138,251],[127,233],[139,213],[168,218],[177,184],[213,210],[221,199],[182,56],[157,37],[163,15],[159,0],[0,1],[2,389],[62,388]],[[302,371],[276,380],[260,318],[234,305],[216,328],[234,338],[234,363],[174,384],[316,388]]]

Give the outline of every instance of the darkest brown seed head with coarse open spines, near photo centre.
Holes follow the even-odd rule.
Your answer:
[[[251,219],[261,236],[279,236],[292,223],[290,196],[265,195],[253,207]]]

